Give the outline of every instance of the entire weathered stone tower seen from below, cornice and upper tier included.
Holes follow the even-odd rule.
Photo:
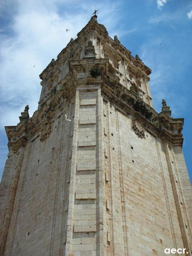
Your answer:
[[[6,126],[0,256],[192,256],[183,118],[94,15],[40,75],[38,110]]]

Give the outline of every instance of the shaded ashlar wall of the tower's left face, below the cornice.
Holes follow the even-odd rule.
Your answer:
[[[64,113],[72,122],[65,120]],[[73,116],[71,102],[51,121],[50,136],[41,141],[41,133],[36,134],[24,149],[4,256],[48,256],[65,252]],[[8,168],[12,158],[6,162]],[[5,204],[9,200],[9,184],[7,188]],[[3,214],[7,214],[5,208]]]

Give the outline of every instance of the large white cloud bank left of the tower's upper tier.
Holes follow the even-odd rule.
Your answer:
[[[8,0],[0,6],[0,14],[5,15],[5,8],[11,17],[9,30],[4,28],[0,34],[0,129],[16,125],[27,104],[30,116],[33,115],[41,92],[39,74],[88,23],[92,14],[87,12],[85,0],[47,0],[46,5],[43,0],[17,0],[10,14],[12,4],[13,0]],[[115,28],[118,18],[109,13],[118,10],[118,3],[111,5],[106,0],[97,4],[101,10],[98,22],[107,29]],[[94,10],[94,6],[89,9]],[[67,33],[66,28],[70,29]]]

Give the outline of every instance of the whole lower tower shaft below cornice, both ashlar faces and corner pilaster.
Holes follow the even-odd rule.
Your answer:
[[[191,190],[181,148],[147,127],[138,137],[134,117],[102,97],[99,79],[74,83],[71,102],[10,152],[2,202],[13,211],[2,255],[162,256],[164,248],[190,255]]]

